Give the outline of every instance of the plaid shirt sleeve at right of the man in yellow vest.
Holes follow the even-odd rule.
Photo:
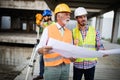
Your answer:
[[[101,34],[98,30],[96,30],[96,48],[97,50],[104,49],[103,43],[101,41]]]

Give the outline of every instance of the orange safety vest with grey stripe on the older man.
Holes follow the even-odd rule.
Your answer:
[[[55,24],[50,25],[47,28],[48,28],[48,37],[49,38],[54,38],[56,40],[63,41],[66,43],[72,42],[72,32],[70,30],[68,30],[67,28],[65,28],[63,36],[59,32],[59,29],[57,28],[57,26]],[[64,58],[57,52],[48,53],[48,54],[44,55],[45,66],[57,66],[61,63],[70,64],[70,60]]]

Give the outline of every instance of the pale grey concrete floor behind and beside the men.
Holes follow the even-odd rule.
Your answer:
[[[105,41],[103,42],[106,49],[120,48],[120,45],[111,44]],[[36,77],[39,73],[38,58],[37,62],[35,63],[34,74],[33,76],[29,75],[28,80],[32,80],[32,78]],[[72,80],[73,77],[72,67],[73,64],[71,63],[69,80]],[[22,73],[16,77],[15,80],[24,80],[27,72],[26,69],[24,69]],[[120,54],[99,58],[98,64],[96,66],[95,80],[120,80]]]

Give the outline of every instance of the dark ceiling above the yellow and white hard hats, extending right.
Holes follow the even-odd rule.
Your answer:
[[[66,3],[72,10],[72,18],[74,10],[77,7],[85,7],[88,11],[88,18],[101,15],[103,13],[118,10],[120,8],[120,0],[45,0],[51,10],[54,11],[59,3]]]

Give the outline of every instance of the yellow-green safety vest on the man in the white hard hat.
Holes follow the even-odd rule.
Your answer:
[[[78,27],[73,29],[73,38],[79,39],[78,45],[81,47],[88,48],[90,50],[96,50],[96,31],[93,27],[89,26],[85,39],[82,39],[82,34],[80,33]],[[83,61],[95,61],[97,58],[77,58],[76,62]]]

